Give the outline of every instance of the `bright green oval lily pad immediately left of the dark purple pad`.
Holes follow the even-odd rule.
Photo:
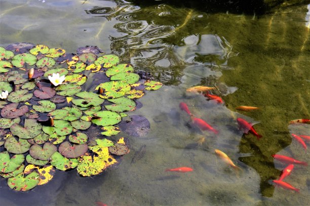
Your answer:
[[[121,116],[116,112],[100,111],[94,113],[96,119],[92,120],[92,123],[100,126],[115,125],[122,121]]]

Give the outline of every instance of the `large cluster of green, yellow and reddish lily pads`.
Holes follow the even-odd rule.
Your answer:
[[[65,80],[54,86],[48,77],[57,73]],[[76,168],[87,177],[116,165],[129,141],[109,136],[121,132],[118,124],[137,98],[161,86],[96,46],[78,54],[32,43],[0,47],[0,93],[9,93],[0,100],[0,176],[13,190],[27,191],[50,181],[56,169]],[[91,127],[101,134],[88,136]]]

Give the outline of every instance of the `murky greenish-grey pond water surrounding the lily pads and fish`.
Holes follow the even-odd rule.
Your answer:
[[[143,107],[130,113],[149,120],[149,133],[112,137],[130,139],[130,153],[118,168],[91,178],[58,171],[50,183],[28,192],[12,191],[1,178],[1,205],[308,204],[309,168],[296,165],[285,180],[299,193],[275,187],[272,180],[286,165],[272,155],[309,160],[291,133],[310,135],[310,126],[289,124],[310,117],[309,9],[245,15],[161,2],[1,0],[0,46],[32,42],[75,53],[97,45],[165,84],[140,98]],[[186,92],[197,85],[216,87],[212,93],[224,104]],[[179,109],[182,101],[219,133],[193,126]],[[259,110],[235,109],[241,105]],[[243,134],[238,117],[257,122],[255,130],[263,137]],[[143,145],[145,155],[132,162]],[[214,149],[224,151],[242,172],[227,167]],[[193,171],[165,171],[185,166]]]

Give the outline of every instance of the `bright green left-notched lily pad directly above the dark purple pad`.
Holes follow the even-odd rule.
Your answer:
[[[113,112],[125,112],[125,111],[131,111],[135,110],[136,103],[134,100],[127,98],[127,97],[120,97],[120,98],[114,98],[114,99],[108,99],[108,101],[111,101],[115,104],[113,105],[105,105],[104,107],[107,110],[113,111]]]

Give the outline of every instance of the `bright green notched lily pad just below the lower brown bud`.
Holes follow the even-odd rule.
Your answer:
[[[54,120],[54,127],[43,126],[42,130],[49,135],[56,132],[58,136],[65,136],[71,134],[71,132],[73,131],[73,127],[68,121]]]

